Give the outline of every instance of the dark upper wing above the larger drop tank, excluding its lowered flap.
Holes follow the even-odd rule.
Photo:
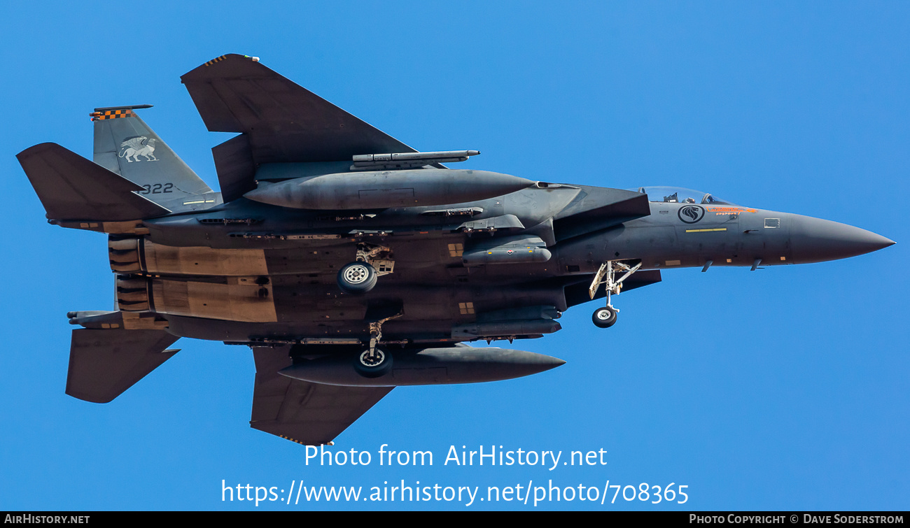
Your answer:
[[[256,164],[416,152],[246,55],[222,55],[180,80],[209,131],[248,134]]]

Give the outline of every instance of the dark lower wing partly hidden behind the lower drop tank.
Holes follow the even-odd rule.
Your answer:
[[[250,427],[307,445],[329,443],[393,387],[312,384],[278,374],[288,347],[253,347],[256,385]]]

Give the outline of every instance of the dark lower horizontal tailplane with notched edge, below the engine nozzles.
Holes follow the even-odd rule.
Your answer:
[[[73,331],[66,394],[107,403],[166,362],[179,337],[163,330]]]

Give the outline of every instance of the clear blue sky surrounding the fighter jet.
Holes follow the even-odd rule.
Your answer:
[[[889,510],[910,492],[906,344],[910,45],[905,3],[332,2],[0,6],[5,281],[0,509],[518,509],[531,503],[222,502],[228,485],[687,485],[685,504],[536,509]],[[179,76],[225,53],[464,166],[620,188],[674,184],[895,240],[824,264],[665,272],[571,309],[515,347],[567,361],[492,384],[393,391],[337,439],[367,466],[314,466],[248,427],[243,347],[183,349],[113,403],[64,394],[69,310],[109,309],[102,235],[45,223],[14,154],[91,157],[96,106],[146,122],[210,185]],[[376,453],[434,464],[379,466]],[[450,445],[606,450],[606,465],[457,467]],[[562,459],[563,461],[565,458]],[[678,488],[677,488],[678,489]],[[611,492],[612,493],[612,490]],[[631,492],[627,492],[631,493]],[[481,496],[485,496],[482,495]]]

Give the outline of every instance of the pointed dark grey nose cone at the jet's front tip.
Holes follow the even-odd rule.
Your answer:
[[[797,214],[790,229],[790,242],[797,263],[847,258],[895,244],[881,234],[853,225]]]

